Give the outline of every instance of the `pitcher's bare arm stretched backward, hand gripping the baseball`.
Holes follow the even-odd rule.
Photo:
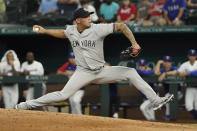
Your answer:
[[[39,25],[34,25],[33,28],[39,28],[39,30],[36,32],[37,34],[47,34],[56,38],[67,38],[64,34],[64,30],[47,30]]]

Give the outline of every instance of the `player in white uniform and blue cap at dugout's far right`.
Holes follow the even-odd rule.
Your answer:
[[[186,76],[197,76],[197,52],[196,50],[188,51],[188,59],[189,61],[184,62],[180,68],[178,69],[178,73],[180,77]],[[189,111],[194,119],[197,120],[197,88],[196,83],[188,84],[186,88],[185,94],[185,108]]]

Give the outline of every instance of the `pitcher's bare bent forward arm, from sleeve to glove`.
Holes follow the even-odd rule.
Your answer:
[[[131,42],[131,45],[135,49],[140,49],[141,47],[137,44],[135,37],[131,30],[123,23],[115,23],[115,32],[121,31]]]

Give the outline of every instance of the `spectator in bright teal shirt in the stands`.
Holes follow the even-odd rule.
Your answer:
[[[119,5],[113,0],[105,0],[100,7],[101,22],[111,23],[116,21]]]

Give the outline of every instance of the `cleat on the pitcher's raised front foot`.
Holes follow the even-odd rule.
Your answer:
[[[161,108],[163,105],[169,103],[170,101],[172,101],[174,98],[174,95],[173,94],[170,94],[168,96],[165,96],[165,97],[161,97],[161,102],[158,103],[158,104],[154,104],[153,105],[153,110],[157,110],[159,108]]]

